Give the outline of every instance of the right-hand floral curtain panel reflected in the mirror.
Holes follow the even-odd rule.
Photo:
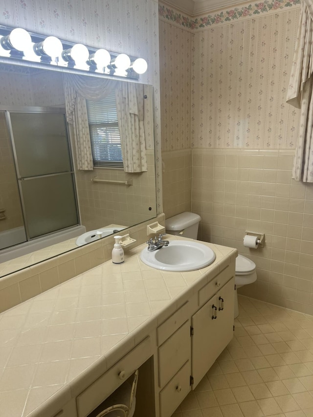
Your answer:
[[[121,83],[115,92],[124,171],[147,171],[144,129],[144,86]]]

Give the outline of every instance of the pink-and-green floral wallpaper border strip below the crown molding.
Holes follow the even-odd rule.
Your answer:
[[[175,23],[187,29],[197,30],[203,29],[215,24],[238,21],[257,17],[269,12],[276,12],[286,9],[287,7],[300,5],[301,0],[265,0],[259,3],[250,3],[242,7],[232,9],[224,9],[215,14],[208,14],[202,17],[192,19],[189,16],[182,15],[179,11],[168,8],[164,4],[158,6],[158,16],[164,21]]]

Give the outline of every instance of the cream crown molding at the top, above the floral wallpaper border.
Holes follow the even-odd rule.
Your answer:
[[[165,0],[168,4],[191,16],[210,12],[227,6],[240,6],[238,0]]]

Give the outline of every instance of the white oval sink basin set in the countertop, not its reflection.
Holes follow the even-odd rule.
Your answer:
[[[144,248],[140,259],[146,265],[163,271],[195,271],[210,265],[215,260],[212,249],[198,241],[170,241],[153,252]]]

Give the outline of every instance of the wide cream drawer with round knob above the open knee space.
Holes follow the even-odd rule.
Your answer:
[[[85,391],[77,395],[78,417],[86,417],[99,404],[102,403],[113,391],[142,365],[150,356],[151,341],[146,337],[132,351],[127,353],[117,364],[112,366],[95,382],[89,385]],[[139,376],[140,377],[140,376]]]

